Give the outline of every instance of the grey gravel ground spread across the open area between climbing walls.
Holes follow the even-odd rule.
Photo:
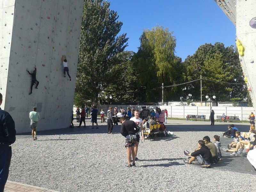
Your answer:
[[[189,128],[208,123],[184,121],[192,124]],[[172,131],[172,126],[169,124],[167,128]],[[241,183],[246,191],[255,190],[255,182],[251,180],[255,181],[256,175],[183,163],[186,157],[183,150],[195,149],[197,140],[205,135],[212,138],[220,134],[215,131],[218,125],[214,131],[212,128],[187,131],[186,125],[179,126],[179,131],[173,129],[177,137],[140,143],[138,157],[143,161],[132,168],[124,166],[126,150],[124,137],[118,133],[120,126],[114,126],[116,134],[106,134],[106,124],[100,124],[98,130],[87,126],[63,135],[39,135],[36,141],[18,139],[12,145],[8,180],[63,192],[237,191],[235,186]]]

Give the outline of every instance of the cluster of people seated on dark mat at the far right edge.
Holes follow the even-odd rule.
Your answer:
[[[249,132],[241,134],[237,128],[234,129],[234,125],[228,125],[228,131],[223,133],[223,136],[234,138],[234,141],[228,144],[228,148],[222,148],[223,151],[233,152],[230,154],[232,156],[237,156],[237,153],[247,155],[249,150],[253,149],[253,146],[256,148],[256,131],[254,126],[250,126]]]

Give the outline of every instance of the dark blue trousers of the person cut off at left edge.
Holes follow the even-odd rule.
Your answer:
[[[8,145],[0,145],[0,192],[4,191],[4,186],[8,179],[11,158],[12,147]]]

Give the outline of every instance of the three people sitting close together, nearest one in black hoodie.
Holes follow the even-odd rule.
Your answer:
[[[214,143],[211,142],[209,136],[205,136],[203,140],[199,140],[197,143],[198,148],[194,152],[184,151],[184,154],[188,158],[184,159],[183,162],[192,164],[194,161],[198,161],[201,167],[211,168],[213,163],[217,163],[221,159],[220,136],[214,135],[213,141]]]

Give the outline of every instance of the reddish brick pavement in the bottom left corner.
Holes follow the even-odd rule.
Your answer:
[[[41,187],[35,187],[32,185],[26,185],[22,183],[17,183],[13,181],[7,181],[4,187],[4,192],[58,192],[50,189],[45,189]]]

